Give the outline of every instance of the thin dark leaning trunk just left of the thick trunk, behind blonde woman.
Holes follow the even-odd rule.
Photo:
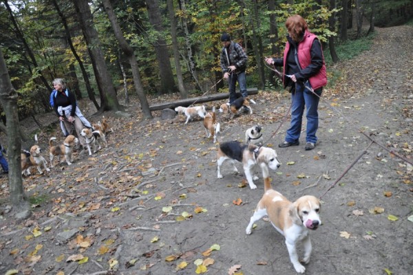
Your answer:
[[[79,65],[79,68],[81,68],[82,77],[83,77],[83,80],[85,81],[87,96],[89,96],[89,99],[95,105],[96,110],[99,110],[99,104],[96,101],[96,98],[94,96],[94,92],[93,92],[92,86],[90,85],[89,77],[87,76],[87,72],[85,70],[85,66],[83,65],[83,61],[81,60],[81,57],[79,57],[79,55],[76,52],[76,49],[74,48],[74,45],[73,45],[73,42],[72,42],[72,37],[70,36],[70,30],[69,30],[69,27],[67,26],[67,21],[66,21],[65,14],[63,14],[63,12],[61,12],[61,10],[59,8],[59,5],[57,4],[56,0],[52,0],[52,3],[53,3],[54,8],[57,11],[57,14],[59,14],[59,17],[60,17],[60,19],[63,23],[63,27],[65,28],[66,39],[67,39],[67,43],[69,44],[70,50],[72,50],[73,56],[76,59],[78,65]]]

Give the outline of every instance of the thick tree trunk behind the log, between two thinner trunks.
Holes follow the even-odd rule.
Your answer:
[[[175,81],[173,80],[173,73],[171,68],[171,61],[169,61],[168,48],[165,39],[162,38],[162,16],[157,0],[147,0],[147,10],[149,22],[153,28],[158,32],[158,38],[153,47],[156,52],[156,59],[158,60],[158,68],[160,74],[160,93],[168,94],[176,91]]]

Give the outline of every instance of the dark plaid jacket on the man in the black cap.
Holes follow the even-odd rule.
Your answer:
[[[228,58],[226,53],[228,53]],[[231,65],[235,65],[237,68],[235,73],[245,72],[246,61],[248,61],[248,56],[238,43],[231,41],[228,48],[223,47],[221,50],[220,65],[223,73],[228,72],[228,67]]]

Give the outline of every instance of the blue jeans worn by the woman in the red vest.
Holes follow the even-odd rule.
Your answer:
[[[311,87],[310,83],[306,85]],[[317,94],[321,95],[321,92]],[[299,134],[301,133],[301,123],[303,120],[304,107],[307,109],[307,135],[306,142],[316,143],[317,136],[315,136],[318,129],[318,103],[319,97],[310,92],[304,85],[295,85],[295,92],[291,93],[291,100],[293,101],[291,106],[291,124],[287,130],[286,141],[294,143],[298,141]]]

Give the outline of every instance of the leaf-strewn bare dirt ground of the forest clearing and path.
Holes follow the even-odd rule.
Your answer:
[[[218,116],[219,141],[243,141],[247,128],[263,126],[265,145],[282,162],[271,171],[275,190],[291,201],[321,196],[322,225],[310,232],[306,274],[412,274],[412,166],[377,145],[412,162],[412,61],[413,28],[399,26],[377,28],[370,51],[329,68],[341,77],[324,91],[312,151],[304,150],[305,132],[299,146],[277,147],[289,125],[289,118],[283,123],[288,92],[261,91],[252,115]],[[8,212],[8,181],[0,179],[0,273],[195,274],[194,262],[211,258],[207,274],[229,274],[235,265],[238,274],[295,274],[284,238],[268,221],[245,234],[264,191],[262,177],[250,190],[244,174],[224,163],[224,179],[217,179],[218,144],[206,138],[200,119],[184,125],[183,116],[161,120],[154,112],[142,121],[136,106],[129,106],[129,119],[105,114],[114,129],[107,149],[24,179],[33,203],[28,220]],[[63,140],[59,126],[52,128]],[[45,151],[52,134],[39,134]],[[209,252],[213,245],[219,249]],[[70,261],[76,254],[83,260]]]

